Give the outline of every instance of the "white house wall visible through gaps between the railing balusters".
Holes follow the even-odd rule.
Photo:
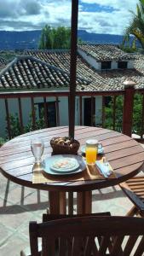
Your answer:
[[[48,97],[47,102],[54,102],[55,97]],[[9,113],[19,114],[18,101],[17,99],[9,99]],[[35,103],[43,102],[42,97],[37,97],[34,99]],[[22,117],[23,124],[26,126],[30,113],[32,113],[32,105],[30,98],[21,99],[22,106]],[[37,105],[36,105],[37,106]],[[83,121],[84,121],[84,97],[82,101],[83,108]],[[67,97],[59,97],[59,110],[60,110],[60,125],[68,125],[68,100]],[[79,97],[76,97],[76,106],[75,106],[75,125],[80,125],[80,112],[79,112]],[[102,97],[95,96],[95,116],[96,124],[101,124],[101,113],[102,113]],[[36,112],[38,116],[38,111]],[[84,123],[83,123],[84,124]],[[6,137],[6,112],[4,100],[0,100],[0,137]]]

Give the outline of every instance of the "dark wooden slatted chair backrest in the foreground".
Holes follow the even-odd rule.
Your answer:
[[[38,237],[43,238],[43,256],[144,255],[143,218],[90,216],[31,222],[32,256],[38,256]]]

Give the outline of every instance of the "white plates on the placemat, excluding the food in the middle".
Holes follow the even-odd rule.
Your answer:
[[[53,166],[55,164],[55,161],[61,160],[61,159],[66,160],[67,158],[71,159],[75,164],[75,166],[72,166],[71,168],[67,168],[65,170],[61,170],[61,169],[58,170]],[[44,172],[47,172],[48,174],[53,174],[53,175],[67,175],[67,174],[83,172],[86,168],[83,158],[81,156],[72,155],[72,154],[53,155],[43,160],[42,165],[43,165]]]

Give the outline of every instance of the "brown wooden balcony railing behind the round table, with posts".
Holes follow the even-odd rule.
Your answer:
[[[143,139],[144,134],[144,90],[135,90],[134,86],[126,87],[124,90],[111,90],[111,91],[77,91],[76,96],[79,97],[79,116],[78,116],[78,125],[84,125],[83,113],[84,113],[84,105],[83,97],[91,97],[91,125],[94,124],[93,116],[95,115],[94,108],[94,97],[102,96],[102,117],[101,117],[101,126],[105,127],[106,121],[106,111],[105,111],[105,102],[107,96],[112,97],[112,130],[116,130],[116,101],[118,96],[124,97],[124,108],[123,108],[123,124],[122,132],[131,137],[132,133],[132,120],[133,120],[133,105],[134,105],[134,96],[135,93],[139,93],[142,96],[142,113],[141,113],[141,140]],[[56,104],[56,125],[60,125],[60,111],[59,111],[59,98],[67,97],[69,102],[69,92],[68,91],[26,91],[26,92],[1,92],[0,93],[0,101],[3,99],[5,102],[5,113],[6,113],[6,121],[7,121],[7,131],[9,139],[12,136],[11,133],[11,125],[10,125],[10,111],[9,109],[9,99],[15,99],[17,101],[17,113],[20,121],[20,133],[24,133],[24,124],[23,117],[25,115],[25,108],[22,108],[21,100],[23,98],[31,99],[31,113],[32,113],[32,130],[35,130],[36,127],[36,112],[35,112],[35,98],[41,97],[43,98],[43,106],[44,106],[44,126],[49,127],[48,115],[46,112],[46,103],[48,98],[55,97]],[[3,111],[1,109],[1,111]],[[0,124],[1,125],[1,124]],[[68,125],[68,123],[67,123]],[[1,129],[1,127],[0,127]]]

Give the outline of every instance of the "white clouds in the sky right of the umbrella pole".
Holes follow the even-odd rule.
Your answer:
[[[99,9],[95,12],[84,12],[82,3],[99,4]],[[87,32],[123,34],[125,27],[130,24],[130,10],[135,11],[136,3],[135,0],[102,0],[101,3],[99,0],[81,0],[79,28],[85,27]],[[107,12],[102,7],[110,7],[112,12]]]

